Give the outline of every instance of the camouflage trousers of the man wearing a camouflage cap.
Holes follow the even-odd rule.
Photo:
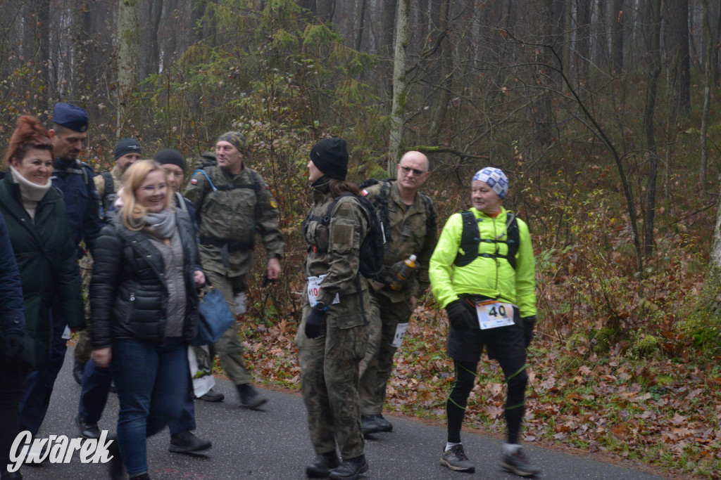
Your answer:
[[[227,277],[214,271],[205,271],[205,276],[211,284],[221,292],[223,298],[228,302],[230,311],[235,314],[234,294],[245,291],[247,284],[245,276]],[[223,363],[226,375],[236,385],[249,384],[252,379],[243,356],[243,345],[240,343],[238,328],[235,324],[226,330],[221,339],[210,347],[211,356],[218,355]]]

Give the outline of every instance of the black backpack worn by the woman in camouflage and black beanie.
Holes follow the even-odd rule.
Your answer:
[[[309,214],[308,217],[306,217],[303,225],[304,233],[307,222],[309,221],[320,222],[321,225],[327,227],[330,223],[330,214],[332,214],[335,204],[337,204],[338,200],[340,200],[343,196],[349,195],[355,196],[355,198],[361,202],[361,205],[363,205],[363,208],[365,208],[368,213],[368,218],[371,219],[371,223],[368,225],[368,233],[361,243],[361,250],[358,255],[360,260],[358,271],[360,271],[366,279],[379,280],[381,279],[381,271],[383,270],[383,261],[386,253],[386,236],[384,234],[383,224],[379,219],[378,212],[376,212],[376,208],[373,207],[371,201],[366,199],[365,196],[355,195],[348,191],[345,192],[345,194],[335,197],[323,217],[319,217],[314,214]],[[314,247],[309,247],[308,251],[311,252],[313,248]]]

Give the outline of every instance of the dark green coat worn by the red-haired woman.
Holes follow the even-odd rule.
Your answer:
[[[50,350],[50,307],[59,300],[68,325],[84,326],[77,250],[65,203],[51,187],[37,204],[35,220],[22,207],[19,185],[7,173],[0,180],[0,212],[7,222],[25,299],[25,353],[32,369],[42,368]]]

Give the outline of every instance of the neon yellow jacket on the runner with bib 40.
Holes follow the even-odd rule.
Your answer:
[[[475,208],[471,208],[471,212],[478,220],[478,230],[482,239],[508,238],[506,209],[502,208],[495,218]],[[531,235],[526,222],[517,220],[520,239],[515,270],[504,258],[482,255],[466,266],[457,267],[454,266],[454,261],[461,245],[463,222],[460,213],[451,215],[438,238],[438,245],[430,258],[428,271],[433,295],[441,307],[446,307],[458,299],[459,294],[479,294],[516,304],[521,317],[536,314],[536,263]],[[508,245],[505,243],[481,242],[478,251],[494,254],[496,248],[502,255],[508,253]]]

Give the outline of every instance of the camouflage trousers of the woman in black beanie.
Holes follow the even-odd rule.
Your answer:
[[[306,305],[304,319],[309,312]],[[355,458],[365,449],[358,362],[366,351],[366,327],[362,323],[339,327],[330,315],[324,326],[325,331],[311,340],[305,336],[305,322],[301,322],[296,335],[308,430],[316,453],[335,451],[337,443],[342,458]]]

